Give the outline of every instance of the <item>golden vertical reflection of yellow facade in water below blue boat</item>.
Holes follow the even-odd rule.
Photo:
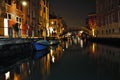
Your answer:
[[[33,66],[32,80],[44,80],[50,73],[50,54],[47,54],[42,58],[33,61],[33,64],[31,66]]]

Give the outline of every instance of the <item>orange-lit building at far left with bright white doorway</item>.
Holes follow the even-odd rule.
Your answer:
[[[20,37],[22,25],[21,6],[15,0],[0,0],[0,36]]]

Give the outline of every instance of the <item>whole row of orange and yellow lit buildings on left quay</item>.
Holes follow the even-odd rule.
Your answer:
[[[31,38],[47,34],[48,0],[0,0],[0,4],[0,36]]]

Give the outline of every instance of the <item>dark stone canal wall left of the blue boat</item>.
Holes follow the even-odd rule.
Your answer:
[[[0,58],[32,55],[31,39],[0,39]]]

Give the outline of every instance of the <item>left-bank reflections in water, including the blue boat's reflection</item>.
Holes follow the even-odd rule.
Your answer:
[[[0,66],[0,80],[46,80],[50,64],[62,57],[62,46],[50,46],[49,51],[34,52],[30,58],[22,58],[6,67]],[[12,59],[11,59],[12,60]]]

